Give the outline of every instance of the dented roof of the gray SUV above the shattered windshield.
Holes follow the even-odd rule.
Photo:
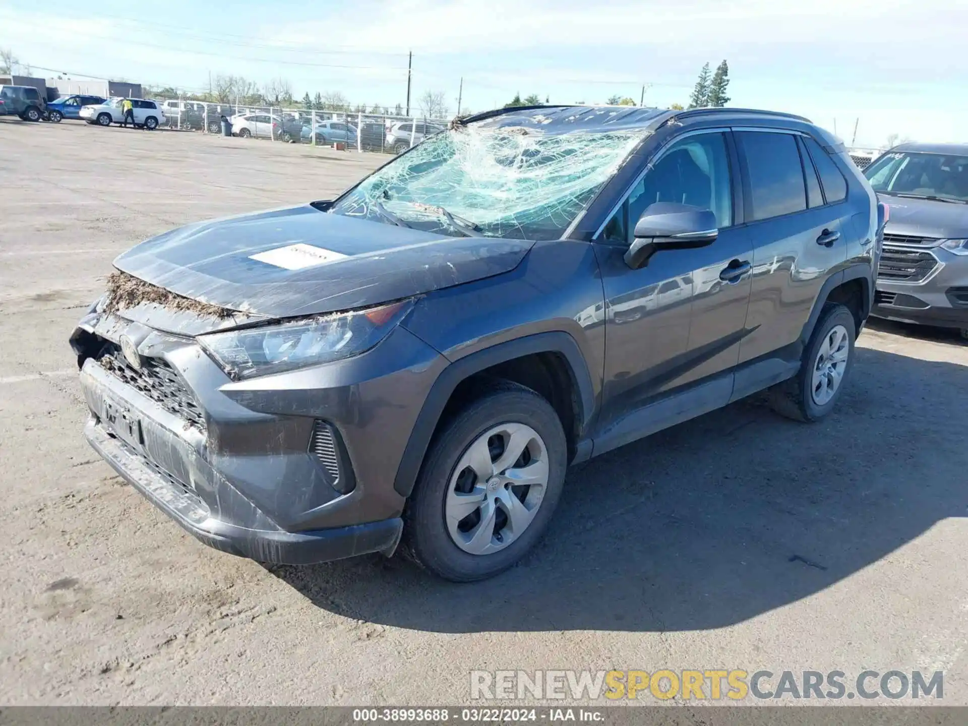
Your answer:
[[[736,117],[744,120],[757,118],[795,119],[810,123],[802,116],[778,111],[754,108],[691,108],[671,110],[639,106],[518,106],[497,108],[465,117],[466,124],[488,122],[489,126],[525,126],[541,129],[548,134],[567,134],[576,131],[629,131],[643,132],[655,129],[666,121],[676,118],[685,120],[700,116]]]

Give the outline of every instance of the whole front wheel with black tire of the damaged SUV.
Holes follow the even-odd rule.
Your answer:
[[[472,582],[511,567],[558,505],[567,443],[534,391],[498,381],[442,424],[405,513],[405,547],[439,577]]]

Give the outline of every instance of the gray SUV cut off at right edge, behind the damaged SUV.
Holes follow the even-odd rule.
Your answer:
[[[863,173],[891,207],[873,315],[968,340],[968,144],[904,143]]]

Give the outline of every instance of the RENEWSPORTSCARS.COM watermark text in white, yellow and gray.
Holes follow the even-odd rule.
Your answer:
[[[654,698],[667,701],[942,699],[942,671],[471,671],[470,698],[484,701]]]

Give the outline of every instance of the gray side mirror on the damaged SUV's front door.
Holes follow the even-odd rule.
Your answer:
[[[707,247],[718,235],[716,216],[709,209],[656,201],[646,208],[635,225],[635,239],[625,253],[625,264],[637,270],[659,250]]]

